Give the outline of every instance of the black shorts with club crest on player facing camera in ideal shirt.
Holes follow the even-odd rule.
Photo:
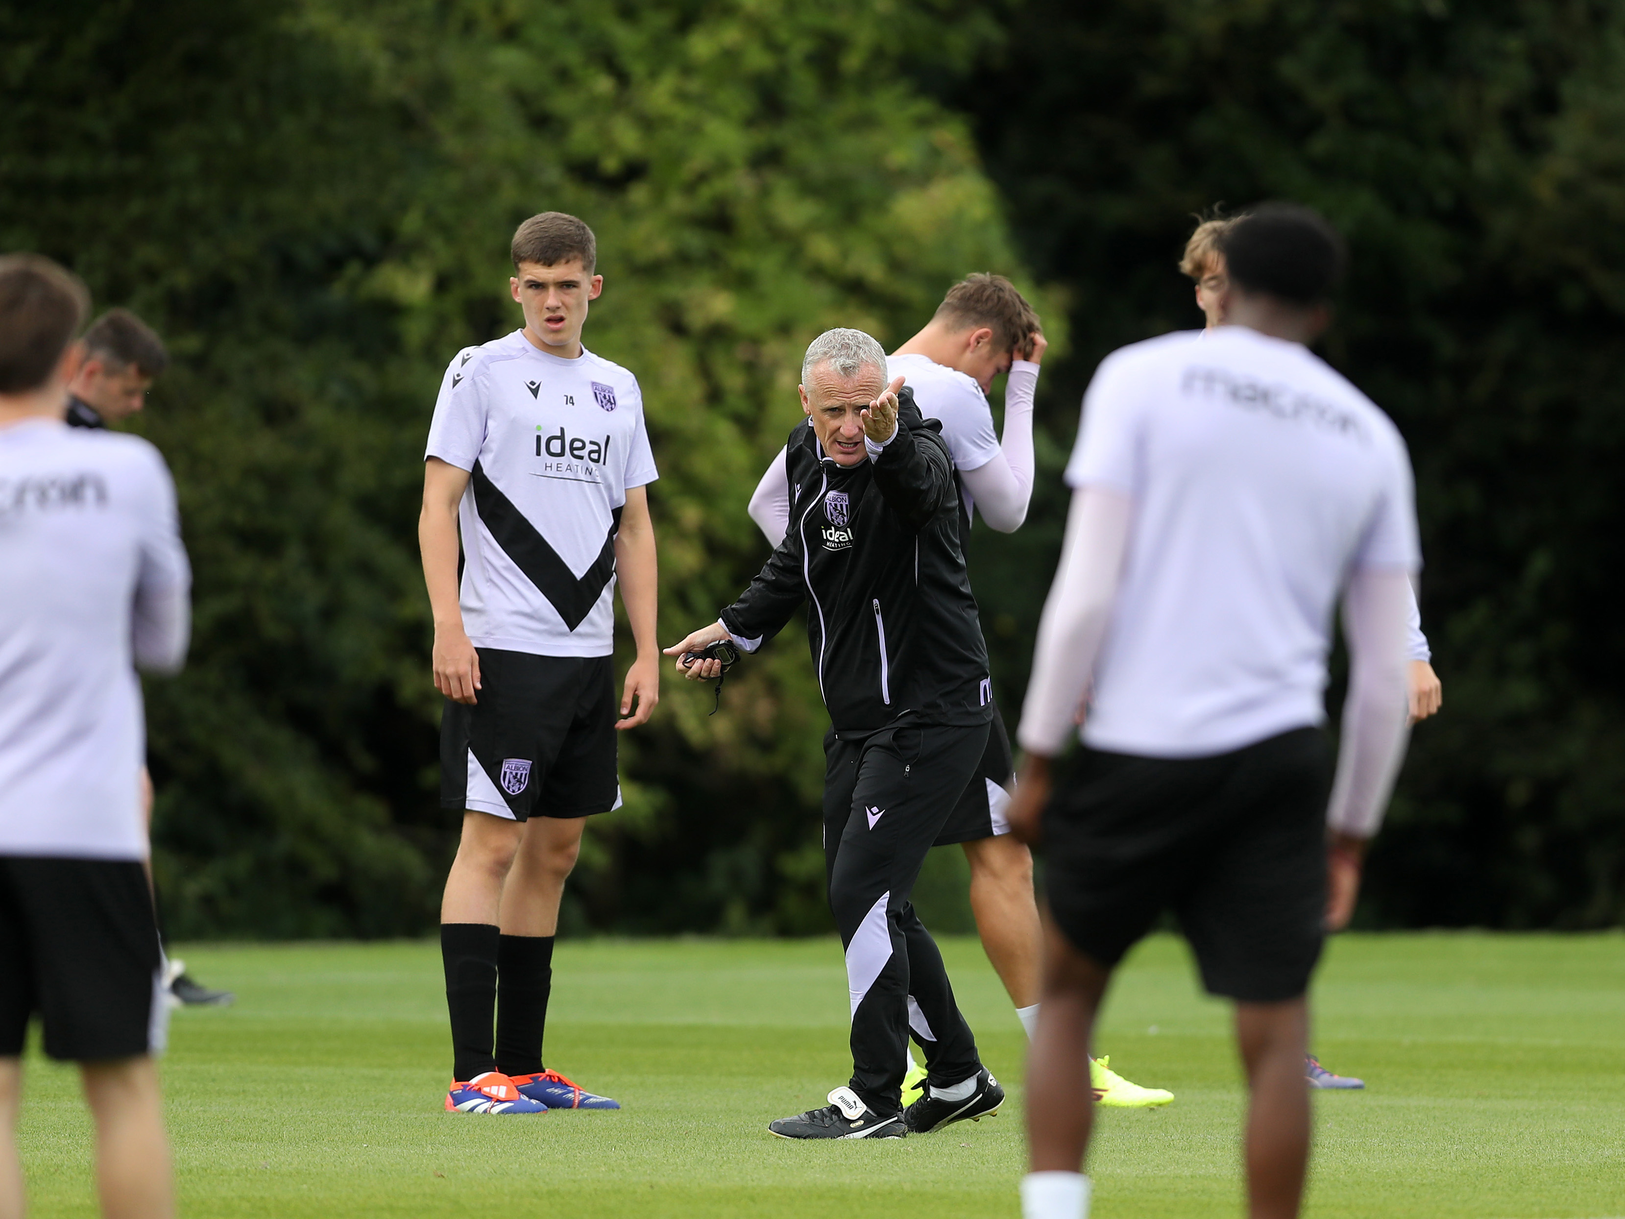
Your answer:
[[[440,714],[440,808],[585,818],[621,806],[609,657],[479,650],[479,699]]]

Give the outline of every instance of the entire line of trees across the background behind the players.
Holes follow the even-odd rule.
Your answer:
[[[455,818],[422,439],[445,359],[515,325],[518,219],[598,231],[587,343],[645,388],[670,639],[764,557],[743,507],[814,333],[897,343],[968,270],[1050,284],[1042,492],[973,543],[1014,709],[1094,361],[1194,325],[1190,213],[1264,197],[1349,234],[1326,353],[1419,471],[1448,705],[1365,918],[1625,915],[1615,7],[65,0],[0,8],[0,247],[62,258],[177,356],[136,424],[198,579],[192,665],[148,688],[174,931],[434,918]],[[826,928],[804,649],[741,666],[715,717],[665,697],[567,918]]]

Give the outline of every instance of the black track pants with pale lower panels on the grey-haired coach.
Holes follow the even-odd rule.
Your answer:
[[[852,1091],[881,1115],[902,1104],[910,1029],[933,1084],[949,1087],[980,1066],[942,956],[908,894],[986,741],[985,723],[824,741],[824,863],[847,949]]]

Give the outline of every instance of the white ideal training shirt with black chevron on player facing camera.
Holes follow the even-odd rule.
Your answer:
[[[540,351],[522,330],[460,351],[426,457],[473,471],[458,512],[460,603],[476,647],[608,657],[614,531],[658,478],[644,395],[619,364]]]

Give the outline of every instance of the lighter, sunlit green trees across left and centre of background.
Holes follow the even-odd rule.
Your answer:
[[[150,684],[177,935],[387,935],[432,918],[437,808],[416,561],[439,374],[518,322],[507,242],[600,239],[587,343],[642,379],[663,478],[661,636],[765,546],[743,507],[819,330],[895,343],[1011,271],[962,127],[900,72],[930,7],[63,5],[0,13],[0,247],[75,267],[177,367],[141,431],[197,569],[192,665]],[[931,36],[965,62],[985,33]],[[627,657],[622,657],[622,662]],[[723,714],[668,683],[624,740],[567,912],[642,930],[827,926],[824,728],[793,632]]]

